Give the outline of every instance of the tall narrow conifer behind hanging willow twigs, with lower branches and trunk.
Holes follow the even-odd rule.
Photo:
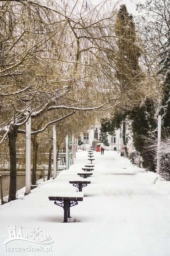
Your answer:
[[[140,50],[136,45],[136,31],[133,22],[133,16],[128,14],[126,5],[120,6],[117,14],[115,33],[118,37],[118,56],[115,60],[116,78],[119,81],[120,92],[126,95],[129,100],[140,98],[138,94],[138,83],[141,80],[141,70],[138,64]],[[124,114],[119,114],[117,117],[110,120],[103,120],[103,131],[113,134],[115,129],[119,129],[123,122],[123,143],[126,156],[128,149],[126,145],[126,117],[129,114],[128,106],[124,105]],[[108,126],[108,127],[107,127]]]

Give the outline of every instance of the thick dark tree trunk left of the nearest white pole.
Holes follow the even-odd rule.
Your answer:
[[[16,156],[16,139],[18,127],[12,126],[11,131],[8,133],[8,146],[10,154],[10,185],[8,202],[16,199],[17,191],[17,156]]]

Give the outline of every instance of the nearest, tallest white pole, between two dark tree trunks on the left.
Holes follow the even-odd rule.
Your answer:
[[[26,174],[25,195],[31,193],[31,117],[26,123]]]

